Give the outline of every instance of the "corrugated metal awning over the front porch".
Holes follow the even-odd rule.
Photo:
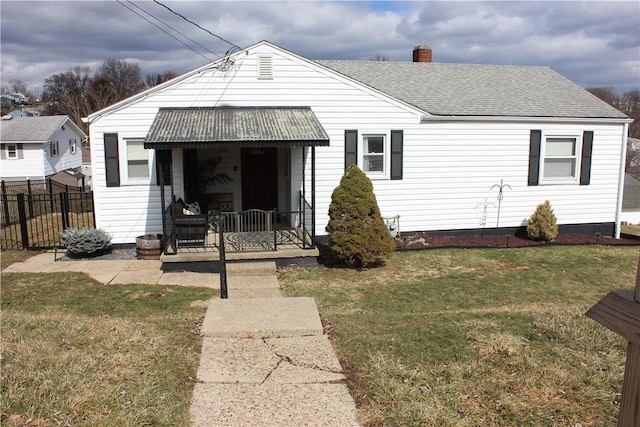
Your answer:
[[[310,107],[160,108],[144,148],[328,146]]]

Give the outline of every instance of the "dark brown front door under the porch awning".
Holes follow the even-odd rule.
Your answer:
[[[242,210],[278,207],[278,156],[275,148],[242,149]]]

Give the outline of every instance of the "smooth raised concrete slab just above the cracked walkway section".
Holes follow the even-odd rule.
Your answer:
[[[214,299],[202,333],[216,338],[301,337],[322,335],[322,324],[310,297]]]

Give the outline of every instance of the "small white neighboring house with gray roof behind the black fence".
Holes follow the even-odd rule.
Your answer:
[[[2,117],[0,179],[45,179],[82,165],[87,135],[68,116]]]

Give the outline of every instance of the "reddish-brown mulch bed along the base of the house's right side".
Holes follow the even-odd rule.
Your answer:
[[[525,236],[494,235],[490,232],[483,236],[434,236],[431,234],[405,235],[396,237],[397,250],[436,249],[436,248],[520,248],[526,246],[550,245],[616,245],[640,246],[640,237],[623,235],[613,237],[583,234],[559,234],[553,242],[540,242]]]

